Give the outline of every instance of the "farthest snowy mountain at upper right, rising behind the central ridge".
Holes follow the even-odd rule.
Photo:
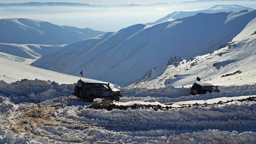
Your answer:
[[[190,12],[175,11],[169,15],[166,15],[163,18],[160,18],[159,20],[155,21],[154,23],[147,23],[147,24],[151,25],[151,24],[162,23],[165,21],[172,21],[177,18],[189,17],[192,15],[196,15],[198,13],[213,14],[213,13],[217,13],[217,12],[234,12],[234,11],[242,11],[242,10],[246,10],[246,9],[251,10],[252,8],[247,8],[247,7],[239,6],[239,5],[215,5],[215,6],[212,6],[210,8],[207,8],[207,9],[204,9],[201,11],[190,11]]]

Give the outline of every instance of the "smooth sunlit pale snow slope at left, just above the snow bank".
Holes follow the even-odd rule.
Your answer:
[[[80,79],[80,77],[57,73],[55,71],[49,71],[21,63],[26,61],[26,59],[19,59],[16,56],[6,55],[6,53],[0,53],[0,55],[4,55],[0,56],[0,80],[4,80],[8,83],[20,81],[21,79],[40,79],[73,84]],[[99,82],[98,80],[86,78],[82,78],[82,80]]]

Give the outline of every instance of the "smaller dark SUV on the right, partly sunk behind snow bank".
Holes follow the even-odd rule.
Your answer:
[[[218,86],[212,85],[210,83],[194,83],[190,89],[190,94],[205,94],[206,92],[219,92]]]

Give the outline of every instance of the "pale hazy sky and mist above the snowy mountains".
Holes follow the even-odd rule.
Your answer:
[[[8,3],[28,2],[29,0],[8,0]],[[82,0],[62,0],[62,2],[81,2]],[[189,0],[182,0],[189,1]],[[182,2],[181,0],[163,0],[154,1],[155,3],[162,2]],[[191,0],[190,0],[191,1]],[[7,0],[1,0],[5,3]],[[57,0],[38,0],[37,2],[57,2]],[[89,3],[90,0],[83,0],[84,3]],[[94,4],[96,4],[95,1]],[[107,1],[110,2],[110,1]],[[94,30],[104,32],[118,31],[122,28],[134,25],[154,22],[174,11],[199,11],[209,8],[214,5],[241,5],[245,7],[255,8],[256,3],[253,1],[214,1],[214,2],[193,2],[193,3],[169,3],[165,5],[146,5],[152,0],[140,6],[118,6],[114,4],[125,3],[119,1],[106,7],[94,6],[1,6],[0,19],[3,18],[29,18],[34,20],[47,21],[59,26],[78,26],[89,27]],[[133,2],[133,1],[131,1]],[[140,0],[138,2],[145,2]],[[102,3],[106,4],[106,3]],[[15,8],[15,9],[14,9]]]

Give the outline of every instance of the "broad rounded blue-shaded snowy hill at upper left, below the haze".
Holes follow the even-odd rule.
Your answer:
[[[0,20],[0,42],[14,44],[70,44],[89,36],[45,21],[25,18]]]

